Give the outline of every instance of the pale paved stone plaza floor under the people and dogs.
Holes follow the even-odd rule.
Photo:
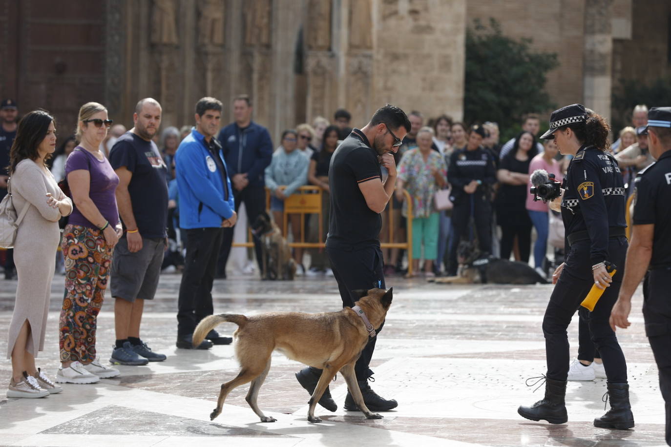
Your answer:
[[[421,279],[389,278],[394,302],[373,357],[380,395],[399,401],[382,420],[342,409],[346,395],[338,375],[331,393],[335,413],[317,406],[321,424],[306,420],[307,393],[294,373],[301,365],[282,355],[259,395],[273,424],[262,424],[244,396],[234,390],[213,422],[219,385],[238,372],[231,346],[177,350],[176,297],[179,275],[163,275],[156,300],[145,307],[142,338],[168,355],[162,363],[119,367],[121,376],[95,385],[64,385],[44,399],[7,399],[9,361],[0,362],[0,444],[17,446],[662,446],[664,403],[658,372],[643,332],[640,289],[633,325],[619,332],[627,357],[633,430],[592,426],[603,414],[605,379],[570,382],[566,395],[568,424],[552,426],[517,415],[517,406],[541,399],[525,379],[545,372],[541,319],[552,285],[450,286]],[[52,377],[58,368],[58,314],[62,277],[52,287],[46,350],[38,366]],[[0,281],[0,325],[9,326],[15,281]],[[109,295],[109,293],[108,293]],[[256,314],[265,311],[338,310],[340,297],[332,278],[259,281],[239,277],[215,281],[215,312]],[[114,342],[111,299],[98,318],[98,351],[107,363]],[[222,324],[229,334],[234,324]],[[571,353],[577,350],[577,320],[569,330]],[[6,335],[0,350],[7,351]]]

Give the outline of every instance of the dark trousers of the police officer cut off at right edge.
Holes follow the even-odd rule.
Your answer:
[[[643,282],[646,335],[660,370],[660,391],[666,409],[666,444],[671,446],[671,269],[652,270]]]

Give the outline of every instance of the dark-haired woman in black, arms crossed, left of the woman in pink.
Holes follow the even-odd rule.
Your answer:
[[[531,219],[526,209],[529,163],[537,153],[533,134],[522,132],[515,138],[513,149],[503,157],[497,171],[501,182],[495,208],[497,224],[501,227],[501,259],[509,259],[517,236],[519,257],[529,262],[531,253]]]

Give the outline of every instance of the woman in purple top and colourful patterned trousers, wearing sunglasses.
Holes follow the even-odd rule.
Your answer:
[[[119,371],[99,363],[96,318],[103,305],[112,250],[121,235],[115,190],[119,177],[99,150],[112,120],[99,103],[79,109],[79,145],[65,164],[74,210],[63,231],[66,295],[60,312],[60,383],[95,383]]]

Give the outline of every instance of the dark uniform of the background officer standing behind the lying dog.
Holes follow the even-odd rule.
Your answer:
[[[472,194],[464,191],[464,186],[472,180],[481,184]],[[482,146],[474,151],[464,147],[450,156],[448,181],[452,185],[452,228],[454,243],[450,247],[450,274],[457,269],[457,249],[463,235],[468,233],[468,219],[473,216],[480,251],[492,250],[492,206],[489,198],[490,188],[497,181],[497,170],[491,153]]]

